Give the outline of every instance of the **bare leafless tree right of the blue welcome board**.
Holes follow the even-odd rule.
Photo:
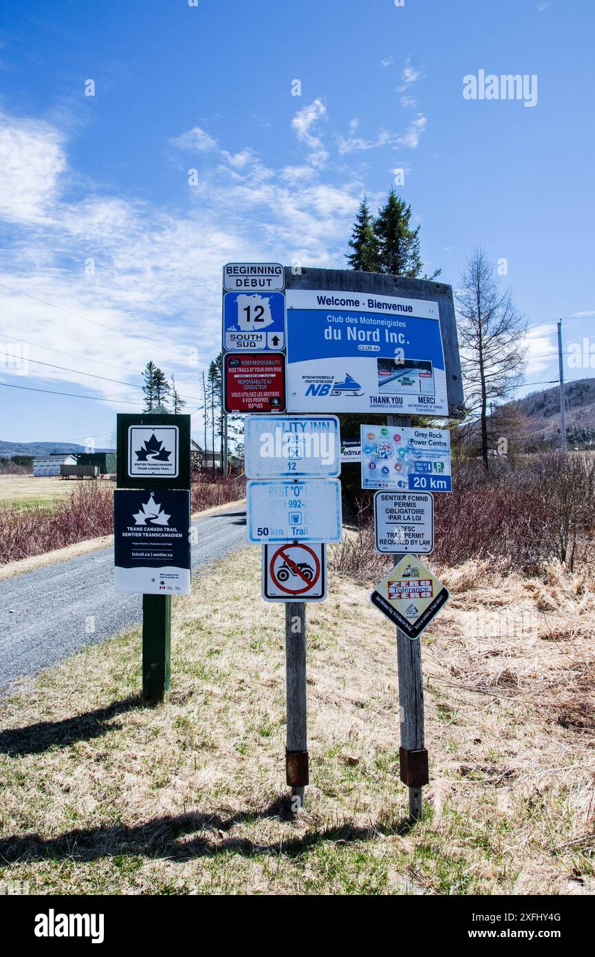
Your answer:
[[[502,292],[482,249],[467,260],[457,296],[457,326],[468,412],[478,414],[481,457],[489,468],[489,404],[518,387],[525,363],[526,323],[510,290]]]

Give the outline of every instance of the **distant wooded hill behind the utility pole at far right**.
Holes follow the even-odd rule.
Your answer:
[[[595,377],[577,379],[564,385],[566,434],[595,441]],[[523,417],[522,432],[540,441],[550,441],[560,435],[560,389],[541,389],[532,392],[508,407]]]

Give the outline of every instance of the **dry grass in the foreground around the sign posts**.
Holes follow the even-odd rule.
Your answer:
[[[174,605],[172,700],[138,631],[2,702],[0,859],[37,893],[574,894],[595,878],[595,586],[443,569],[423,639],[430,787],[408,831],[393,632],[335,575],[308,609],[307,807],[284,800],[283,609],[246,548]]]

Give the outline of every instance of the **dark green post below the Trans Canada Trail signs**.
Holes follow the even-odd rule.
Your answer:
[[[171,595],[143,595],[143,699],[169,701]]]

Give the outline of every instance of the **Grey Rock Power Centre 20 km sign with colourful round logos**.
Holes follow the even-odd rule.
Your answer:
[[[363,425],[362,488],[451,492],[450,432]]]

